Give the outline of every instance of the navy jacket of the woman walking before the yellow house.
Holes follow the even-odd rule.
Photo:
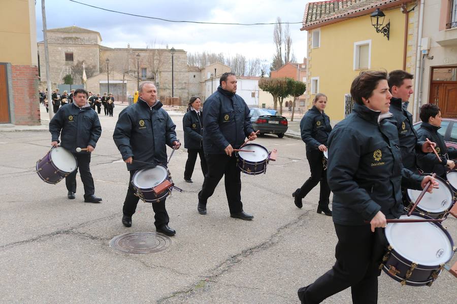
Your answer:
[[[306,143],[306,150],[316,150],[321,144],[327,146],[332,126],[330,118],[323,111],[322,113],[313,106],[303,116],[300,122],[300,131],[302,139]]]

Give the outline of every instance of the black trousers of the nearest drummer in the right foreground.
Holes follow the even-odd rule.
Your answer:
[[[315,304],[351,287],[353,304],[376,304],[378,300],[377,261],[382,257],[382,230],[372,233],[370,225],[346,226],[335,224],[338,244],[337,261],[331,270],[313,284],[302,287],[298,295],[302,303]]]

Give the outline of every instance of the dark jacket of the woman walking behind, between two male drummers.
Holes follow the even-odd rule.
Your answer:
[[[202,148],[203,139],[203,111],[200,110],[200,116],[194,110],[188,110],[182,118],[184,128],[184,147],[186,149]]]

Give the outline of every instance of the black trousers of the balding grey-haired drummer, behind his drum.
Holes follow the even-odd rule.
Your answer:
[[[135,213],[135,210],[137,209],[137,204],[138,201],[140,200],[139,197],[137,197],[135,193],[135,189],[130,182],[132,180],[133,175],[137,172],[137,170],[132,170],[130,171],[130,180],[128,181],[128,190],[127,190],[127,195],[125,196],[125,201],[124,201],[124,207],[122,209],[122,212],[124,215],[127,216],[132,216]],[[160,203],[152,203],[152,210],[154,210],[154,225],[157,228],[160,228],[161,226],[168,225],[170,218],[168,217],[167,209],[165,209],[165,201],[162,201]]]

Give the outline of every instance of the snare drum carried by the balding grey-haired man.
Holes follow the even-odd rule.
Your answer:
[[[158,203],[172,192],[173,181],[170,171],[161,165],[138,170],[132,177],[135,195],[146,203]]]

